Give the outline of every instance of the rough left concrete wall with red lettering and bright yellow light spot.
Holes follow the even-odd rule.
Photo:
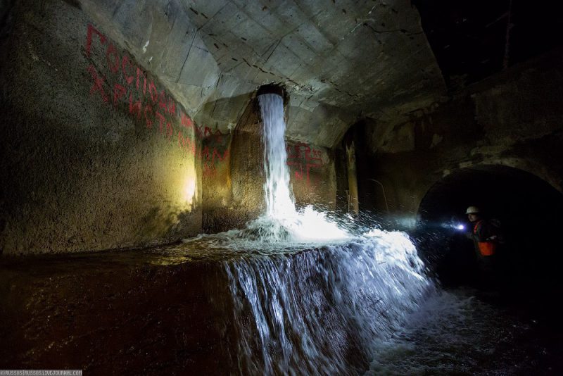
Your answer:
[[[201,232],[202,125],[74,1],[2,29],[0,251],[87,251]]]

